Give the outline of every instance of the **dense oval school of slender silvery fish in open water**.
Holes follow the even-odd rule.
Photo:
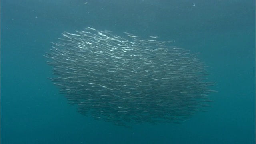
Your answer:
[[[90,27],[64,32],[44,55],[56,75],[49,79],[80,114],[120,126],[180,123],[212,102],[207,94],[215,83],[206,81],[197,54],[156,36],[125,34]]]

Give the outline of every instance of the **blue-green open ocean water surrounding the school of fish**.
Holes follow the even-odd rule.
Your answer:
[[[1,0],[1,144],[255,144],[255,0]],[[94,120],[47,77],[45,52],[87,26],[199,52],[218,92],[182,124]]]

